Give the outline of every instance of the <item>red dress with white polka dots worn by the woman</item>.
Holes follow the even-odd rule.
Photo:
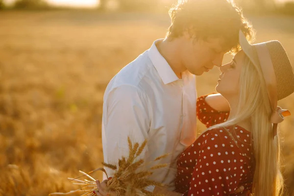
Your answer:
[[[226,121],[229,113],[197,99],[197,117],[210,127]],[[231,136],[235,138],[233,140]],[[176,192],[183,196],[238,196],[241,185],[251,190],[254,158],[250,132],[240,126],[205,131],[177,159]]]

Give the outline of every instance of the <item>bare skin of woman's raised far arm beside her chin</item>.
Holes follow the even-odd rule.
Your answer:
[[[211,94],[205,98],[206,103],[219,112],[230,111],[230,105],[221,94]]]

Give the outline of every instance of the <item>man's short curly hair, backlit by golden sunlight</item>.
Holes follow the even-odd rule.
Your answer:
[[[252,25],[233,0],[178,0],[169,14],[172,23],[166,37],[170,40],[187,31],[195,39],[222,38],[222,47],[236,53],[241,49],[240,30],[249,42],[255,36]]]

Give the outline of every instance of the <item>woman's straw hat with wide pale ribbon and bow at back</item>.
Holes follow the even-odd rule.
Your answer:
[[[239,42],[253,65],[261,67],[263,72],[272,109],[270,120],[273,123],[273,136],[275,136],[277,123],[281,123],[284,116],[291,115],[288,110],[277,106],[278,100],[286,98],[294,92],[294,73],[290,60],[279,41],[251,45],[240,30]]]

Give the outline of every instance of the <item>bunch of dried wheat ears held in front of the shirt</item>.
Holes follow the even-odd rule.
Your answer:
[[[93,191],[97,191],[96,180],[91,177],[89,174],[97,171],[102,171],[106,174],[107,178],[107,189],[108,191],[115,192],[117,196],[160,196],[153,194],[146,190],[148,186],[159,186],[164,187],[163,184],[158,183],[153,180],[149,180],[148,177],[156,169],[165,168],[168,164],[155,164],[157,161],[165,158],[168,154],[162,155],[154,159],[151,164],[154,165],[146,169],[146,163],[143,159],[136,160],[136,158],[143,152],[146,147],[147,140],[145,140],[141,146],[139,143],[132,144],[130,138],[128,137],[128,146],[129,146],[129,155],[128,157],[122,157],[118,160],[118,166],[111,165],[102,162],[104,167],[110,168],[115,171],[112,178],[108,178],[107,172],[103,168],[98,168],[91,172],[81,172],[82,176],[87,176],[89,179],[79,180],[78,178],[68,178],[73,181],[73,184],[83,185],[82,188],[70,191],[68,193],[51,193],[49,196],[53,195],[70,195],[73,193],[83,193],[81,196],[95,196]],[[145,168],[142,170],[142,168]]]

